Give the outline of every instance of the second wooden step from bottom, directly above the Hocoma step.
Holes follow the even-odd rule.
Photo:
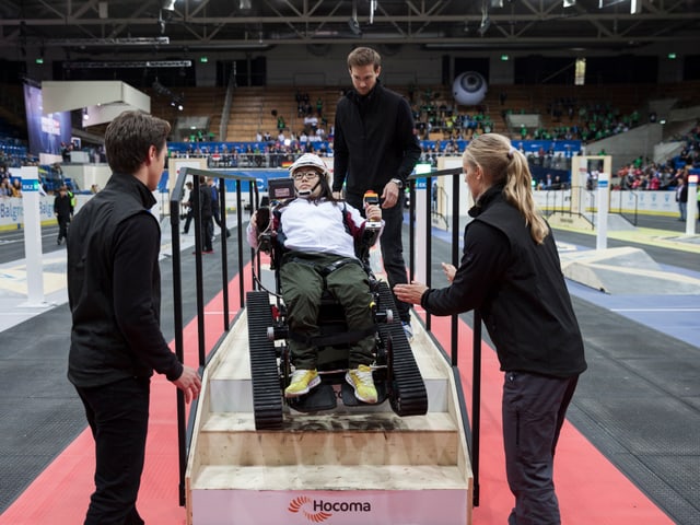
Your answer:
[[[250,413],[212,413],[199,434],[207,465],[456,465],[458,434],[446,413],[296,415],[282,432],[256,432]]]

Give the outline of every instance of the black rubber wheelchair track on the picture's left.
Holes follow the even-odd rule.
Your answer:
[[[267,329],[272,326],[268,292],[247,292],[246,307],[248,308],[248,343],[255,428],[256,430],[281,430],[282,396],[277,354],[275,342],[267,337]]]

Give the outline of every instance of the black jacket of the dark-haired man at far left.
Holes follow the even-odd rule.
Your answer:
[[[161,230],[149,212],[154,203],[136,177],[113,174],[73,219],[68,378],[75,386],[149,377],[153,370],[170,381],[183,373],[160,328]]]

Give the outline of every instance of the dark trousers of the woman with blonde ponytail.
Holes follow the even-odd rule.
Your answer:
[[[515,495],[509,525],[559,525],[555,450],[579,376],[506,372],[503,444],[508,483]]]

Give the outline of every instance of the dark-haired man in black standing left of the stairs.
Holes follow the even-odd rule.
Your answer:
[[[199,395],[160,327],[161,229],[149,211],[165,164],[170,124],[125,112],[105,132],[113,175],[75,214],[68,240],[72,315],[68,378],[95,440],[95,491],[85,525],[140,525],[150,377],[164,374],[185,401]]]

